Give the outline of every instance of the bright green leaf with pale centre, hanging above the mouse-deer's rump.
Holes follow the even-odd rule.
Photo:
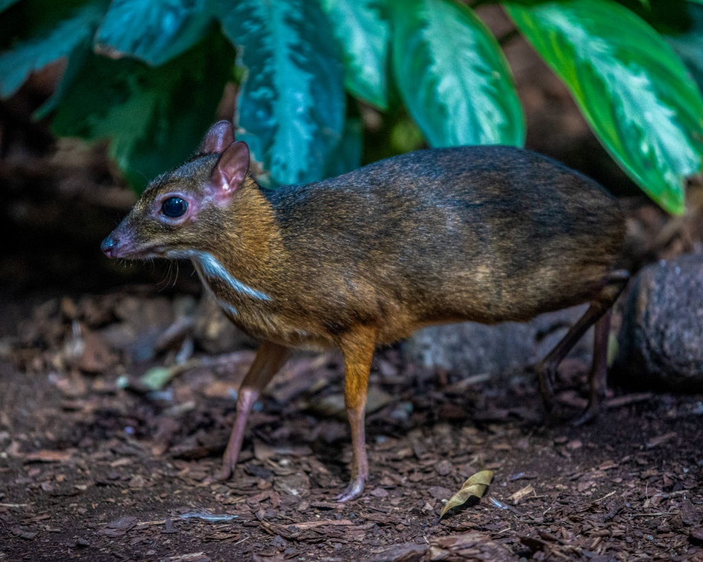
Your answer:
[[[683,212],[685,178],[701,169],[703,99],[671,47],[610,1],[505,7],[610,155],[664,209]]]

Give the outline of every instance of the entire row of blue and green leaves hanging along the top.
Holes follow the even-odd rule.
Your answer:
[[[703,84],[702,1],[472,6],[489,3],[503,4],[623,169],[664,209],[683,211],[685,178],[702,166],[703,99],[689,73]],[[136,188],[198,146],[226,81],[239,83],[237,136],[269,185],[353,169],[363,138],[368,159],[417,148],[422,138],[402,105],[432,146],[521,145],[510,70],[473,8],[458,0],[0,0],[0,96],[68,58],[38,115],[53,113],[60,135],[109,139]],[[380,124],[363,131],[356,100],[382,110]]]

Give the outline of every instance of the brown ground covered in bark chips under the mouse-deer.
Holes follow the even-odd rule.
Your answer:
[[[0,339],[0,560],[703,560],[703,396],[616,390],[574,428],[581,358],[562,365],[545,419],[529,374],[462,381],[378,353],[371,478],[337,504],[340,359],[299,355],[256,408],[235,476],[208,483],[252,351],[195,353],[148,393],[138,375],[179,346],[135,362],[110,345],[124,308],[177,302],[139,289],[4,303],[23,320]],[[440,521],[482,469],[496,476],[481,502]]]

